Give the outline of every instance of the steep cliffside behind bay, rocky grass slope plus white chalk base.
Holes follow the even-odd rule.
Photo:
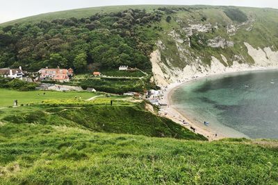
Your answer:
[[[268,20],[262,21],[261,12],[243,11],[247,17],[243,22],[227,19],[222,10],[213,11],[222,16],[219,19],[214,17],[198,24],[193,24],[197,19],[193,12],[190,18],[186,17],[188,12],[172,15],[175,26],[161,35],[151,55],[152,80],[156,85],[212,74],[277,68],[278,49],[271,40],[277,39],[277,30],[265,27]],[[208,17],[207,12],[199,14]],[[277,11],[275,15],[278,17]],[[263,35],[267,29],[270,34]]]

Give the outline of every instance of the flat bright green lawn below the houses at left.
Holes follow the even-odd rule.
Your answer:
[[[43,95],[45,93],[45,95]],[[42,100],[49,99],[69,99],[81,97],[88,99],[96,94],[91,92],[59,92],[59,91],[16,91],[9,89],[0,89],[0,107],[13,106],[13,101],[18,100],[18,105],[26,103],[40,103]]]

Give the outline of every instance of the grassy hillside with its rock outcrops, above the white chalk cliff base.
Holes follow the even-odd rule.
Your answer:
[[[163,32],[158,36],[161,41],[158,45],[161,60],[170,69],[198,65],[196,60],[209,66],[212,56],[226,67],[234,61],[253,64],[254,60],[248,55],[245,42],[254,48],[271,47],[272,51],[278,50],[278,10],[202,7],[172,12],[172,9],[165,10],[163,19],[166,16],[172,19],[169,22],[163,22],[162,19]]]

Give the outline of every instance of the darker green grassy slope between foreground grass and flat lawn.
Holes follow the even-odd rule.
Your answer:
[[[38,93],[42,94],[36,91],[34,96]],[[19,99],[19,105],[28,102],[24,103],[24,106],[0,109],[0,121],[15,124],[65,125],[92,132],[207,140],[204,136],[190,132],[170,119],[148,112],[145,109],[145,102],[132,103],[117,96],[112,98],[95,96],[94,100],[80,100],[79,96],[85,96],[86,93],[79,93],[77,100],[74,97],[66,98],[76,94],[78,93],[65,93],[61,98],[60,95],[63,93],[47,92],[45,95],[47,97],[44,100],[40,99],[38,103],[30,96],[25,96],[25,99]],[[1,97],[5,96],[10,97],[8,94],[1,94]],[[49,96],[56,100],[49,100]]]

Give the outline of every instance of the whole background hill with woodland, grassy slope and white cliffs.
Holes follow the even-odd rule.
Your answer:
[[[276,66],[277,17],[275,9],[224,6],[52,12],[1,24],[0,67],[59,66],[87,73],[129,65],[152,74],[158,73],[152,54],[163,80],[172,82],[183,71]]]

